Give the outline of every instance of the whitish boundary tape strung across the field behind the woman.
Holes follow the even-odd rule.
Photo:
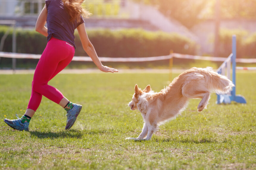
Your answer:
[[[28,58],[28,59],[40,59],[40,54],[26,54],[26,53],[9,53],[0,52],[0,57],[5,58]],[[207,61],[225,61],[225,57],[205,57],[198,55],[186,55],[179,53],[172,53],[170,55],[156,56],[156,57],[128,57],[128,58],[111,58],[111,57],[99,57],[102,62],[142,62],[142,61],[157,61],[157,60],[168,60],[171,58],[184,58],[194,60],[207,60]],[[74,56],[72,61],[92,61],[90,57],[78,57]],[[237,58],[238,63],[256,63],[256,58]],[[249,67],[248,67],[249,68]],[[239,68],[240,69],[240,68]]]

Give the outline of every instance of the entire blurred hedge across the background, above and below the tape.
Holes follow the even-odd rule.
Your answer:
[[[6,26],[0,27],[0,37],[9,29]],[[47,44],[46,37],[34,30],[16,30],[17,53],[41,54]],[[149,57],[168,55],[170,50],[175,53],[196,54],[197,45],[190,39],[179,34],[168,34],[161,31],[150,32],[142,29],[121,29],[111,31],[108,29],[88,30],[88,36],[94,45],[96,52],[102,57]],[[246,31],[225,30],[220,31],[220,56],[227,57],[232,48],[232,35],[237,35],[237,57],[255,58],[256,54],[256,33],[249,35]],[[249,36],[248,36],[249,35]],[[77,45],[76,56],[87,56],[84,52],[78,33],[75,33]],[[4,42],[3,51],[12,51],[12,31],[10,31]],[[35,67],[38,60],[20,59],[18,64],[22,67]],[[187,61],[175,59],[176,64],[186,64]],[[91,62],[90,62],[91,63]],[[166,65],[166,61],[150,62],[148,66]],[[72,62],[73,66],[79,67],[79,62]],[[111,63],[114,65],[114,63]],[[124,63],[122,63],[124,66]],[[134,63],[125,63],[125,66],[134,66]],[[139,65],[139,64],[137,64]],[[93,64],[91,66],[94,66]],[[11,59],[1,58],[0,67],[11,67]]]

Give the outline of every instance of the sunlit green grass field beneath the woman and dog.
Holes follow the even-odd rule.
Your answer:
[[[177,76],[174,74],[173,76]],[[32,74],[0,75],[0,117],[27,107]],[[143,126],[127,106],[134,85],[160,91],[168,74],[59,74],[49,82],[83,109],[65,131],[64,109],[43,97],[30,131],[0,121],[1,169],[256,169],[256,73],[237,74],[247,104],[215,104],[198,113],[198,99],[161,125],[151,141],[134,142]]]

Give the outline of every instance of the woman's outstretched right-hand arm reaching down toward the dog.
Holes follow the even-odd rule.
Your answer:
[[[82,23],[77,27],[77,31],[83,46],[83,49],[85,50],[85,52],[90,56],[90,58],[93,60],[93,62],[96,64],[96,66],[102,71],[102,72],[118,72],[117,69],[113,69],[107,66],[103,66],[101,61],[99,60],[99,57],[92,45],[92,43],[90,42],[88,35],[86,33],[85,30],[85,24]]]

